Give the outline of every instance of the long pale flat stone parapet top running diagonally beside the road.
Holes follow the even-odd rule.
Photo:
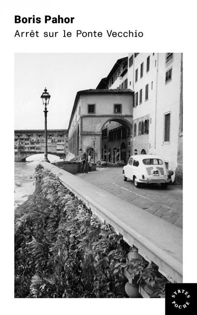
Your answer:
[[[47,163],[61,183],[170,282],[182,282],[182,229]],[[122,210],[121,210],[122,209]],[[166,237],[167,236],[167,237]]]

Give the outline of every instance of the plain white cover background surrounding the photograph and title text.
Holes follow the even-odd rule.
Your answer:
[[[195,1],[99,0],[6,1],[1,3],[0,169],[2,314],[164,314],[164,299],[14,299],[14,53],[15,52],[183,52],[184,57],[184,282],[197,282],[197,53]],[[74,16],[72,25],[14,24],[14,15]],[[23,31],[138,30],[143,38],[14,39]]]

